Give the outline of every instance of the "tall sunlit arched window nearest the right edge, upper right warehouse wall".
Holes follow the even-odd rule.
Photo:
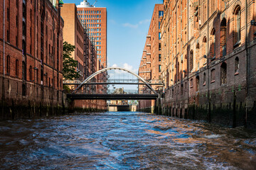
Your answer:
[[[234,47],[237,47],[239,45],[239,42],[241,40],[241,10],[240,6],[236,6],[234,13]]]

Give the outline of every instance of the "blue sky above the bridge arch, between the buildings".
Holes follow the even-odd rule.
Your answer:
[[[82,0],[63,0],[80,4]],[[95,0],[89,0],[93,4]],[[149,30],[154,4],[162,0],[97,0],[107,7],[107,62],[137,72]]]

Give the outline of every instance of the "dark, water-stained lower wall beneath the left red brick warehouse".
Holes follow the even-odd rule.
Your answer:
[[[19,86],[22,82],[17,79],[0,77],[0,82],[0,120],[41,118],[68,112],[68,101],[62,91],[27,83],[26,95],[23,95]]]

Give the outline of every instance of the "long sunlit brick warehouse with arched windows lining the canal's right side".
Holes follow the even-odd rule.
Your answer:
[[[162,112],[256,128],[254,0],[164,1]]]

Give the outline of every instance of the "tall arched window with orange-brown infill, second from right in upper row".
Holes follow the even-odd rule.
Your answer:
[[[225,56],[227,54],[227,21],[225,18],[220,23],[220,47],[222,50],[220,55]]]

